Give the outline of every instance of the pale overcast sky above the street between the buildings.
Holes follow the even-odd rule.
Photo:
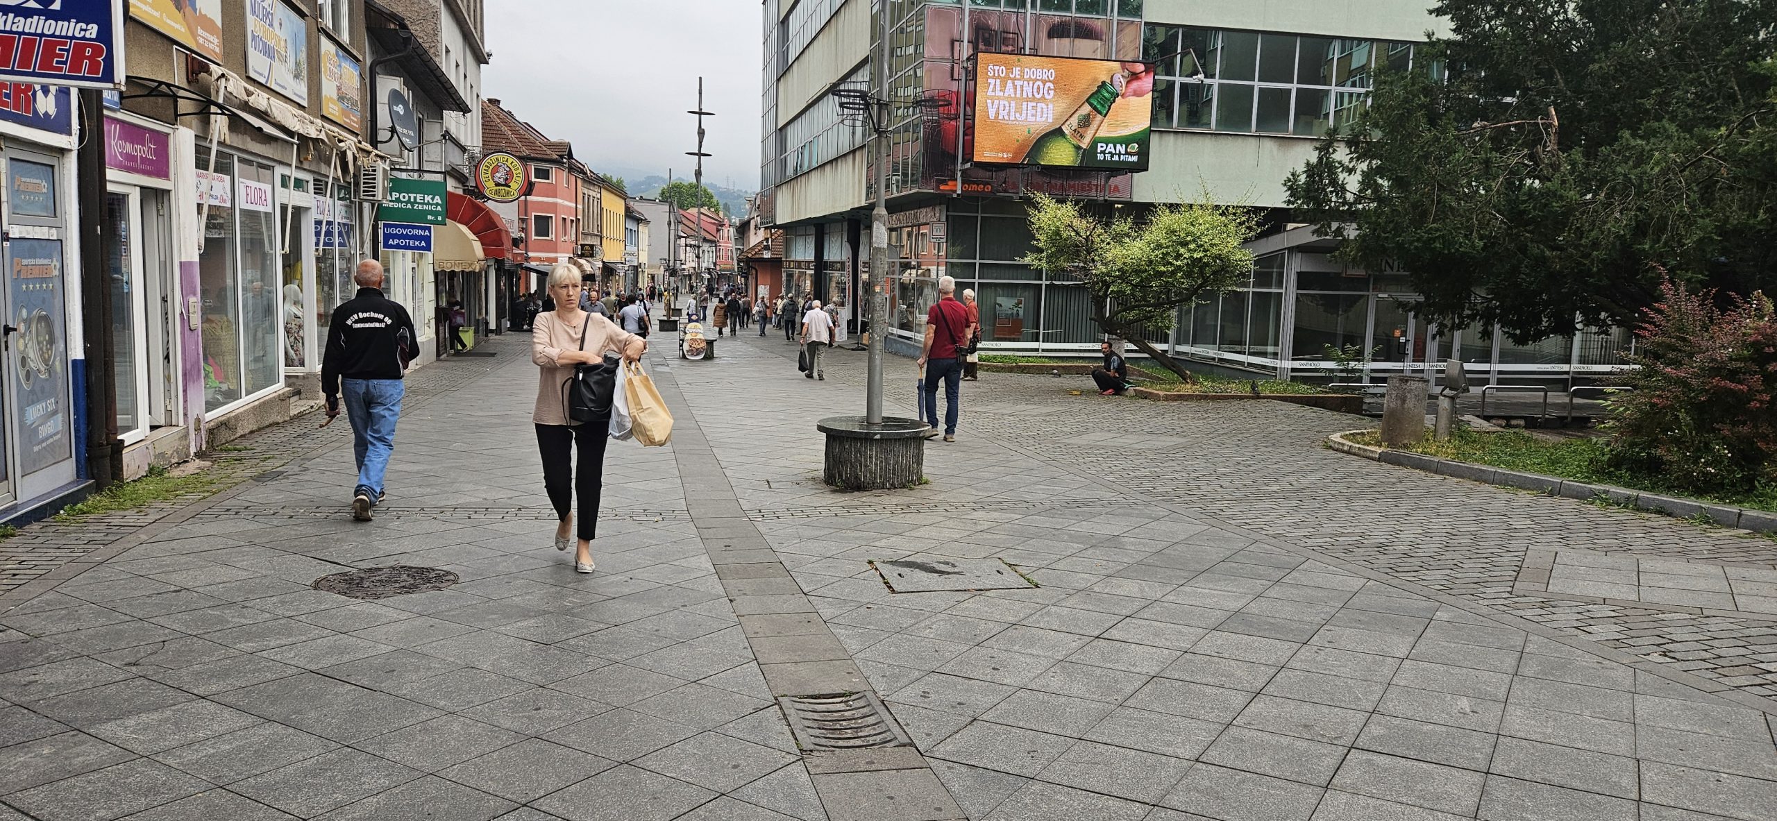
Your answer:
[[[594,171],[689,179],[704,76],[704,181],[759,187],[759,0],[489,0],[482,94]]]

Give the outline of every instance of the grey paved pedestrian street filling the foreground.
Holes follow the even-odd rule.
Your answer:
[[[7,542],[0,821],[1777,817],[1777,542],[1084,377],[984,373],[929,483],[841,494],[814,421],[864,355],[805,380],[743,334],[657,339],[673,444],[611,444],[579,576],[524,343],[412,377],[373,522],[309,416],[215,498]],[[967,560],[1038,586],[890,588]],[[386,565],[460,581],[311,586]],[[785,711],[833,707],[778,700],[849,693],[912,746],[816,748]]]

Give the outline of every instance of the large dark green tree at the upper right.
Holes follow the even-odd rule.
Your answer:
[[[1777,0],[1441,0],[1450,37],[1287,187],[1423,318],[1518,341],[1631,325],[1661,272],[1772,290]],[[1379,57],[1379,62],[1388,62]]]

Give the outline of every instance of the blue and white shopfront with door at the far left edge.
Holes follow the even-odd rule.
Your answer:
[[[39,92],[41,91],[41,92]],[[0,107],[5,167],[5,354],[0,355],[0,512],[69,490],[84,430],[85,359],[75,208],[75,100],[9,85]]]

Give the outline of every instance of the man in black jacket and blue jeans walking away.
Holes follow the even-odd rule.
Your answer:
[[[357,457],[357,487],[352,489],[352,519],[370,521],[382,501],[382,474],[394,453],[394,421],[402,416],[402,371],[419,355],[414,320],[407,309],[382,295],[382,263],[364,259],[352,274],[357,297],[332,313],[327,350],[322,355],[322,393],[327,418],[345,412],[352,419],[352,453]]]

